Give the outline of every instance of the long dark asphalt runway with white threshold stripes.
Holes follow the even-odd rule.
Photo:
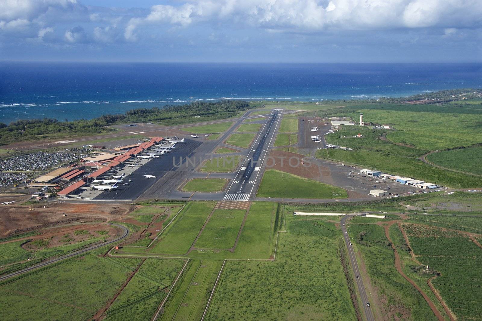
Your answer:
[[[253,192],[254,189],[254,184],[259,176],[260,168],[263,165],[269,146],[273,140],[281,112],[281,109],[275,109],[268,117],[256,141],[254,141],[253,149],[246,156],[223,200],[249,200],[251,192]]]

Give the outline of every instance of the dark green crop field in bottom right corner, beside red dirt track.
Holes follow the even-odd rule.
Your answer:
[[[465,234],[442,229],[407,229],[416,259],[441,275],[432,279],[445,303],[460,320],[480,320],[482,306],[482,249]]]

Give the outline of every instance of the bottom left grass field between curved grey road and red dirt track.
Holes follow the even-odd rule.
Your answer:
[[[86,320],[114,296],[139,262],[92,253],[9,279],[0,286],[2,319]]]

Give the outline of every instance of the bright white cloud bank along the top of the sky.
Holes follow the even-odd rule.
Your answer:
[[[480,0],[191,0],[179,6],[155,5],[125,28],[134,40],[143,25],[187,27],[210,22],[223,26],[317,32],[424,27],[480,27]]]

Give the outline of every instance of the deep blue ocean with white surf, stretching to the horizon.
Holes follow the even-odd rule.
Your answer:
[[[482,64],[0,63],[0,122],[195,100],[321,101],[482,87]]]

